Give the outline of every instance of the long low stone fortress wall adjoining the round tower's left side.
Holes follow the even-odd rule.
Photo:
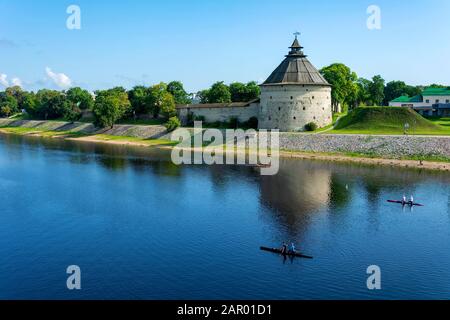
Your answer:
[[[259,110],[259,103],[252,103],[247,107],[183,108],[178,109],[178,115],[182,122],[187,121],[189,112],[193,113],[197,117],[205,117],[205,121],[208,123],[227,122],[231,118],[237,118],[240,122],[245,122],[252,117],[258,118],[258,110]]]

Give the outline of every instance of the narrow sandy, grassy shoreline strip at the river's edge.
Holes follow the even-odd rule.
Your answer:
[[[49,134],[48,131],[34,131],[26,133],[17,133],[8,131],[8,128],[0,128],[0,133],[4,135],[15,135],[15,136],[29,136],[29,137],[41,137],[41,138],[51,138],[51,139],[62,139],[74,142],[89,142],[89,143],[100,143],[109,145],[119,145],[119,146],[133,146],[133,147],[145,147],[145,148],[155,148],[155,149],[165,149],[173,150],[175,146],[169,145],[169,141],[158,141],[158,140],[144,140],[144,139],[134,139],[132,137],[117,136],[117,140],[104,138],[101,135],[86,135],[86,136],[71,136],[70,134]],[[116,136],[114,136],[116,137]],[[154,141],[154,142],[152,142]],[[192,152],[199,152],[195,148],[184,148],[184,150],[190,150]],[[227,151],[225,150],[224,153]],[[248,152],[248,151],[238,151],[238,152]],[[365,157],[364,155],[350,156],[346,154],[339,153],[313,153],[313,152],[302,152],[302,151],[289,151],[280,150],[281,158],[299,159],[299,160],[318,160],[318,161],[331,161],[331,162],[341,162],[341,163],[356,163],[356,164],[367,164],[367,165],[377,165],[377,166],[389,166],[389,167],[401,167],[410,169],[425,169],[433,171],[444,171],[450,172],[450,162],[439,162],[439,161],[427,161],[424,160],[422,163],[419,160],[408,160],[408,159],[390,159],[381,157]]]

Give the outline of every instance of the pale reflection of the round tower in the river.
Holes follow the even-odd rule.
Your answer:
[[[300,234],[311,215],[324,209],[331,194],[331,171],[310,161],[282,160],[276,176],[261,177],[261,203],[292,235]]]

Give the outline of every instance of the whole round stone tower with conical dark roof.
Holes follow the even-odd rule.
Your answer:
[[[332,123],[331,85],[303,54],[297,36],[286,59],[261,85],[260,129],[304,131]]]

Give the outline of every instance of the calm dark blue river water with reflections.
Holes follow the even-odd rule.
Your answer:
[[[449,299],[450,174],[0,136],[0,299]],[[423,208],[388,199],[414,194]],[[313,260],[260,246],[294,241]],[[66,287],[78,265],[82,290]],[[369,291],[366,270],[382,270]]]

